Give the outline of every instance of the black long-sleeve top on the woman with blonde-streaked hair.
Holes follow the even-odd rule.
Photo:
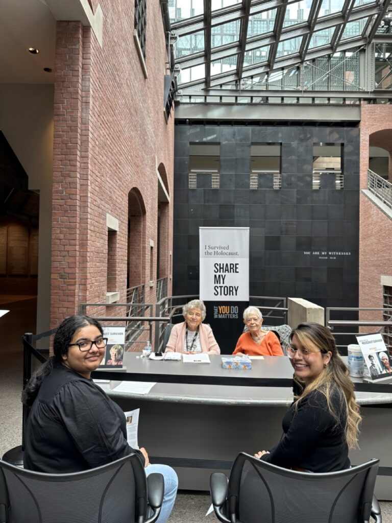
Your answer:
[[[349,449],[344,435],[347,408],[339,391],[333,392],[330,398],[340,415],[338,425],[321,392],[312,391],[298,401],[297,411],[293,404],[283,417],[281,441],[261,459],[286,469],[301,468],[310,472],[348,469]]]

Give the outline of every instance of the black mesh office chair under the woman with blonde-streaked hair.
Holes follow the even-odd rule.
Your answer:
[[[282,469],[238,454],[230,479],[211,475],[211,498],[222,523],[381,523],[373,496],[374,459],[339,472],[313,474]],[[373,507],[372,507],[373,502]]]

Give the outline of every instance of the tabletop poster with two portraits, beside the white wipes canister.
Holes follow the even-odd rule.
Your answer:
[[[379,333],[358,335],[356,339],[371,379],[376,381],[392,378],[392,358],[388,354],[382,335]]]

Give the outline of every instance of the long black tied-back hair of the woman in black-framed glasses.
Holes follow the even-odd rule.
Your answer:
[[[55,365],[61,365],[63,355],[68,354],[68,345],[72,336],[82,327],[94,325],[103,334],[101,324],[90,316],[70,316],[57,327],[53,339],[53,356],[45,361],[31,376],[22,392],[22,403],[31,406],[37,397],[40,386],[45,377],[53,370]]]

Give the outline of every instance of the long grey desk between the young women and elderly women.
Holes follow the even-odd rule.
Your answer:
[[[288,358],[253,360],[251,370],[222,369],[221,357],[210,364],[152,361],[126,353],[126,371],[105,370],[93,378],[110,379],[101,386],[124,411],[141,408],[139,443],[152,462],[170,464],[180,488],[208,490],[211,472],[228,473],[238,452],[254,453],[279,441],[281,422],[293,401],[293,369]],[[157,382],[146,395],[113,391],[124,380]],[[392,392],[358,391],[363,406],[360,451],[353,463],[378,457],[379,499],[392,499]],[[373,384],[365,384],[369,389]],[[392,385],[389,385],[392,391]],[[388,385],[383,385],[388,390]]]

